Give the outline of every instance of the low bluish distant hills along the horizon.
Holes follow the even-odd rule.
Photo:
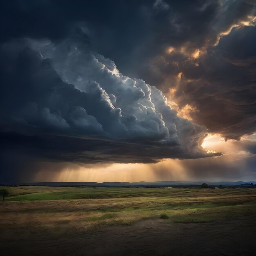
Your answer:
[[[95,186],[95,187],[108,187],[108,186],[198,186],[202,183],[207,183],[208,185],[224,185],[224,186],[250,186],[256,184],[256,181],[221,181],[221,182],[207,182],[207,181],[198,181],[198,182],[187,182],[187,181],[155,181],[155,182],[27,182],[13,185],[37,185],[37,186]],[[252,183],[252,184],[251,184]],[[255,186],[254,186],[255,187]]]

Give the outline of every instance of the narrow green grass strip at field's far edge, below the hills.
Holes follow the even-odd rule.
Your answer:
[[[35,201],[35,200],[72,200],[72,199],[96,199],[96,198],[132,198],[132,197],[175,197],[195,198],[198,197],[198,204],[201,204],[200,198],[205,197],[204,203],[211,201],[211,197],[220,196],[216,204],[221,204],[224,197],[232,195],[255,194],[254,189],[151,189],[151,188],[99,188],[91,189],[72,188],[72,187],[47,187],[47,186],[20,186],[20,187],[1,187],[9,191],[10,195],[7,201]],[[186,208],[189,202],[184,202]],[[225,202],[227,204],[227,202]],[[171,203],[171,205],[173,205]]]

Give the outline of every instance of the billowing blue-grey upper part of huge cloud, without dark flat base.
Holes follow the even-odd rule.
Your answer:
[[[4,43],[1,57],[3,131],[146,139],[187,149],[206,132],[177,117],[161,91],[92,53],[79,36],[56,45]]]

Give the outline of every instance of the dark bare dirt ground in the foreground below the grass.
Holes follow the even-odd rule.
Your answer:
[[[2,228],[1,255],[256,255],[256,216],[189,224],[149,219],[59,235],[15,223]]]

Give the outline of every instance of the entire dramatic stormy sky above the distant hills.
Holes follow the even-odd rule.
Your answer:
[[[0,22],[0,183],[256,180],[256,0],[2,0]]]

